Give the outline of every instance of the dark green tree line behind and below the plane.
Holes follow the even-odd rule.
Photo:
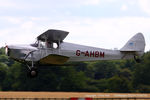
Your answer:
[[[141,63],[131,60],[73,62],[72,66],[42,66],[29,78],[26,66],[0,49],[0,91],[66,91],[150,93],[150,52]]]

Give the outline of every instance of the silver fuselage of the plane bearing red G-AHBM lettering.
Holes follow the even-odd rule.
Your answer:
[[[53,58],[56,57],[54,55],[58,56],[56,59],[54,59],[55,61],[52,58],[46,59],[46,62],[48,62],[48,64],[59,63],[59,61],[63,59],[61,59],[60,57],[68,57],[68,59],[64,62],[61,62],[61,64],[74,61],[115,60],[134,57],[133,55],[125,55],[119,50],[102,49],[67,42],[61,43],[59,48],[39,48],[32,47],[31,45],[26,45],[25,47],[9,46],[9,49],[9,56],[15,60],[20,61],[30,62],[33,60],[34,62],[38,62],[40,61],[40,59],[47,56],[51,56]]]

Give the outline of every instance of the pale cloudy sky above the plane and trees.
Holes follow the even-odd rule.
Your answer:
[[[0,0],[0,46],[30,44],[48,29],[64,40],[121,49],[136,33],[150,50],[150,0]]]

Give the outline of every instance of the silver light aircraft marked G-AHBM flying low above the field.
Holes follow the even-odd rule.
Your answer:
[[[37,37],[34,44],[6,46],[6,54],[29,69],[30,77],[37,76],[37,68],[42,65],[64,65],[74,61],[97,61],[131,59],[139,61],[145,49],[142,33],[133,36],[120,50],[109,50],[67,43],[63,40],[69,32],[48,30]]]

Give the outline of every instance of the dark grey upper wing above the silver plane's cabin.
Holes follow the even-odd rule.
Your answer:
[[[50,42],[62,42],[65,37],[68,35],[69,32],[66,31],[62,31],[62,30],[47,30],[46,32],[44,32],[43,34],[39,35],[37,37],[38,40],[41,41],[50,41]]]

